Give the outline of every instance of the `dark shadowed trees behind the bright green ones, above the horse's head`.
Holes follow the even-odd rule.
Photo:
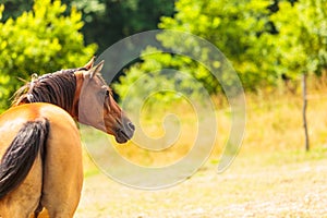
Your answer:
[[[0,0],[1,3],[2,0]],[[64,15],[70,15],[71,8],[82,12],[84,26],[81,28],[86,44],[96,43],[98,53],[112,44],[132,34],[157,28],[162,15],[174,13],[175,0],[61,0],[66,5]],[[5,11],[3,21],[16,19],[24,11],[29,11],[33,1],[3,1]]]

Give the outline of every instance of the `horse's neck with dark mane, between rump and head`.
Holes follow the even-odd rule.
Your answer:
[[[71,111],[76,89],[74,72],[80,69],[61,70],[41,75],[22,86],[14,96],[13,105],[49,102]]]

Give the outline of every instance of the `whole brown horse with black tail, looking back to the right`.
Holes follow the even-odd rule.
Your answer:
[[[43,75],[23,86],[0,116],[0,217],[73,217],[82,183],[81,140],[73,118],[119,143],[134,125],[100,75],[104,62]]]

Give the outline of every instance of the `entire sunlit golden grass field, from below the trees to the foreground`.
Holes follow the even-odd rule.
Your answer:
[[[314,90],[307,108],[311,152],[304,152],[300,95],[247,95],[244,141],[223,173],[217,173],[217,166],[230,121],[222,106],[216,113],[216,149],[179,185],[131,189],[106,177],[85,155],[84,190],[75,217],[327,217],[327,96],[326,89]],[[116,145],[117,150],[150,167],[182,157],[192,141],[192,114],[185,110],[179,114],[185,118],[181,129],[186,133],[178,142],[182,146],[152,154],[130,143]],[[154,118],[144,122],[152,134],[162,134]]]

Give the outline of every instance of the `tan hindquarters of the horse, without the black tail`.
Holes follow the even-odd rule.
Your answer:
[[[40,102],[8,110],[0,117],[0,155],[8,149],[8,142],[19,137],[26,121],[45,119],[49,132],[44,157],[38,152],[19,189],[0,199],[0,217],[28,217],[39,205],[50,217],[72,217],[77,207],[83,183],[82,146],[76,124],[64,110]]]

